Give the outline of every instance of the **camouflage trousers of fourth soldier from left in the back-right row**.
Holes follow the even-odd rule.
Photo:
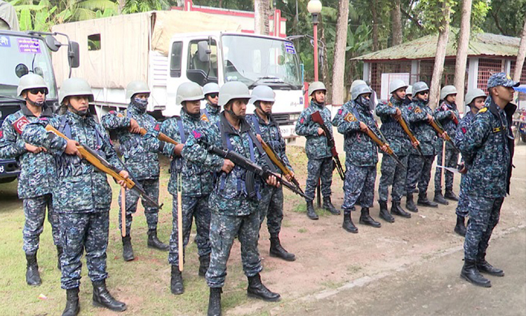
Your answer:
[[[407,182],[405,183],[405,190],[407,193],[412,193],[417,187],[420,193],[427,192],[429,187],[429,180],[431,180],[431,166],[435,155],[419,156],[417,154],[409,155],[409,162],[407,163]]]

